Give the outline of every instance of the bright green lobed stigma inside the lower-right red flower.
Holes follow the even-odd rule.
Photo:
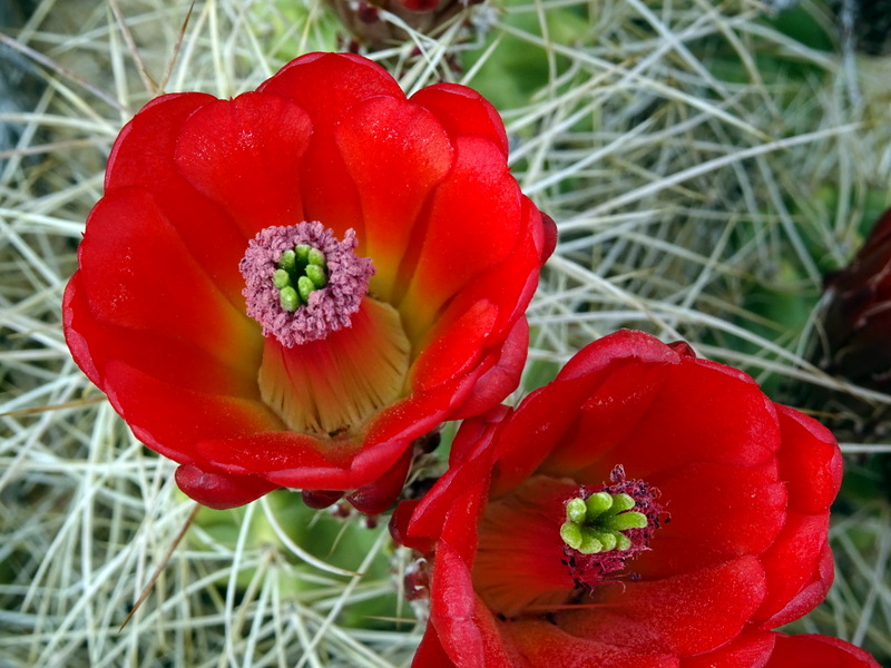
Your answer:
[[[635,500],[628,494],[597,492],[587,499],[571,499],[566,504],[566,522],[560,527],[560,538],[582,554],[609,550],[624,552],[631,547],[624,531],[647,525],[647,517],[631,510],[634,507]]]

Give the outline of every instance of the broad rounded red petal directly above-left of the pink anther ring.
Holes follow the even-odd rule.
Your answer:
[[[312,124],[293,102],[246,92],[210,102],[183,126],[176,164],[253,237],[304,219],[300,173]]]

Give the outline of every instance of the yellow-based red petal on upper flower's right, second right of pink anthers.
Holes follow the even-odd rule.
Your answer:
[[[520,189],[505,156],[481,137],[459,137],[454,147],[454,167],[433,195],[427,236],[400,304],[415,341],[446,302],[515,249],[521,233]]]

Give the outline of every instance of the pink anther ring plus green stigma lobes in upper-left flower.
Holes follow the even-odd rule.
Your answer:
[[[293,347],[349,327],[374,274],[356,245],[352,229],[339,240],[317,222],[267,227],[251,239],[242,294],[263,335]]]

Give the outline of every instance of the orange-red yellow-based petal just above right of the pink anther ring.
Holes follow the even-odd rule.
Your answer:
[[[452,147],[432,114],[392,97],[354,106],[335,136],[359,188],[364,252],[376,269],[371,289],[390,302],[421,207],[452,166]]]

